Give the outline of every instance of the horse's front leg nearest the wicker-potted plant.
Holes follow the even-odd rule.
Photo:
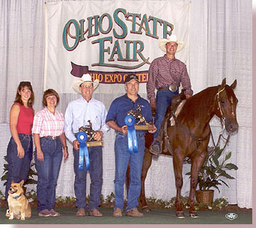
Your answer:
[[[191,164],[191,179],[190,179],[190,191],[189,191],[189,216],[192,218],[198,218],[198,212],[195,210],[195,188],[198,185],[198,173],[201,166],[204,163],[205,154],[195,155],[192,157],[192,164]]]

